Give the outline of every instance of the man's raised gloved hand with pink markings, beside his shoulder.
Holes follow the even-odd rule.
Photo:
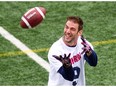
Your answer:
[[[89,44],[85,41],[85,39],[84,39],[83,36],[81,36],[81,39],[82,39],[82,41],[83,41],[81,44],[84,46],[84,47],[82,48],[83,51],[82,51],[81,54],[86,53],[87,56],[90,56],[91,53],[92,53],[91,47],[90,47]]]

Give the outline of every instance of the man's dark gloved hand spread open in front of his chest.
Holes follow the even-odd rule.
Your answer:
[[[62,55],[60,56],[56,56],[56,55],[53,55],[54,58],[56,58],[57,60],[59,60],[60,62],[62,62],[63,66],[65,68],[69,68],[71,67],[71,62],[70,62],[70,55],[71,53],[68,54],[68,56],[66,56],[66,54],[64,54],[64,57]]]

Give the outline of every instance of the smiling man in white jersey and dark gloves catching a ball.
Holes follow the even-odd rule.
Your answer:
[[[48,53],[50,73],[48,86],[84,86],[84,63],[97,65],[97,54],[82,36],[83,21],[78,16],[67,17],[64,35],[51,46]]]

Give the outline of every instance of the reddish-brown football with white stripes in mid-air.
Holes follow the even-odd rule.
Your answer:
[[[25,29],[33,28],[42,22],[45,15],[46,9],[44,7],[31,8],[21,17],[20,26]]]

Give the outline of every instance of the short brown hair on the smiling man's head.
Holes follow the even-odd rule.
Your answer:
[[[67,17],[67,21],[71,20],[74,23],[78,23],[79,24],[79,31],[83,29],[83,20],[79,17],[79,16],[69,16]]]

